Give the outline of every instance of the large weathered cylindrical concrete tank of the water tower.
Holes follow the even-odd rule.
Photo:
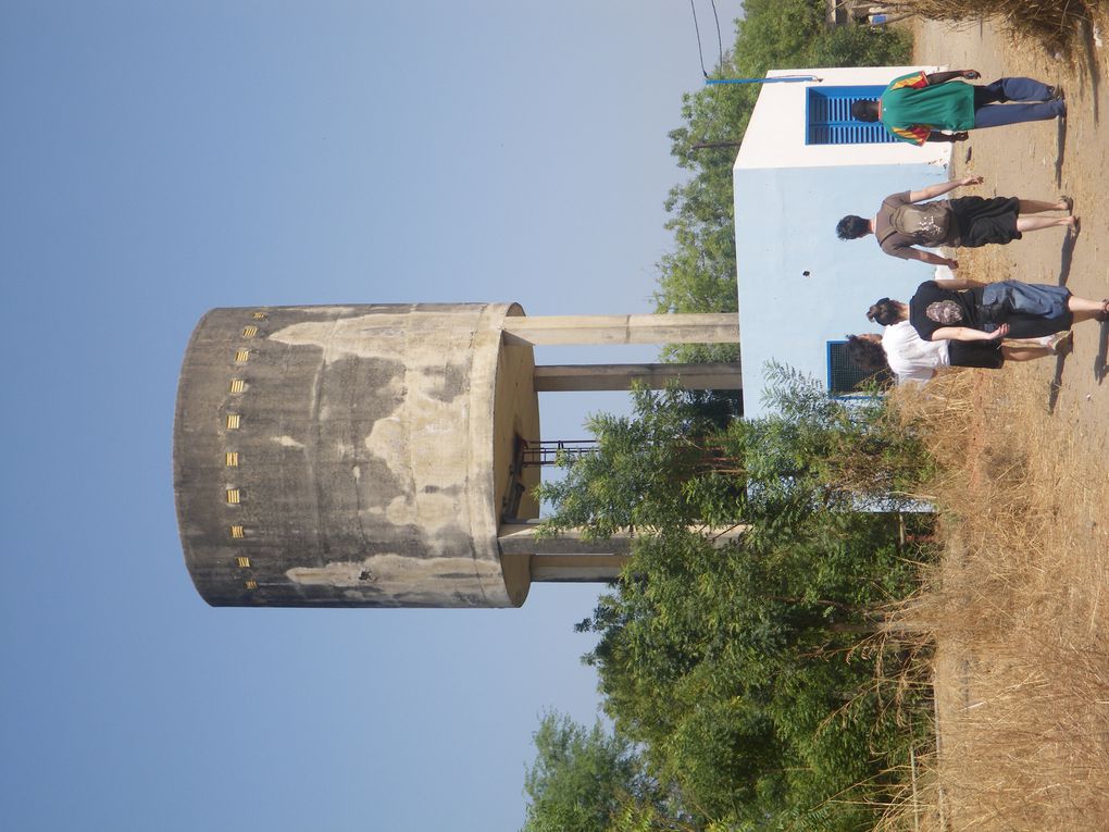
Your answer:
[[[185,354],[174,489],[185,562],[214,606],[510,607],[539,437],[517,305],[221,308]],[[522,496],[521,496],[522,495]],[[515,557],[515,559],[513,559]]]

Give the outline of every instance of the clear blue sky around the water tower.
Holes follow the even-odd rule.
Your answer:
[[[699,83],[684,0],[0,4],[6,828],[519,826],[539,714],[597,711],[597,589],[206,607],[177,369],[212,306],[650,311]]]

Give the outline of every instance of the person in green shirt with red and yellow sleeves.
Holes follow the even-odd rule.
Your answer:
[[[859,121],[881,121],[895,136],[914,144],[960,142],[968,130],[1067,114],[1058,88],[1032,78],[1001,78],[984,85],[962,80],[978,78],[976,70],[910,72],[895,78],[879,99],[854,102],[851,113]]]

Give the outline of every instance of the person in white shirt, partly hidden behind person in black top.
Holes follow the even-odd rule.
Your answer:
[[[876,372],[888,368],[898,384],[928,382],[943,367],[999,369],[1005,362],[1027,362],[1065,354],[1070,333],[1027,343],[998,341],[925,341],[908,322],[908,305],[887,297],[871,307],[871,321],[893,321],[881,335],[847,336],[847,356],[859,367]]]

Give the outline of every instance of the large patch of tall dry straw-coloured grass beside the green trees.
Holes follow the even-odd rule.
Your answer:
[[[946,554],[891,622],[936,647],[940,748],[889,829],[1109,826],[1107,449],[1048,413],[1044,376],[955,372],[895,397],[945,468]]]

